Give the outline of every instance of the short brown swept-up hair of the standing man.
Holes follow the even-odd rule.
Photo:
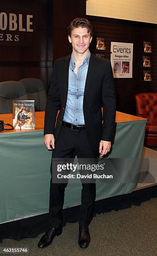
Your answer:
[[[91,22],[85,18],[75,18],[69,23],[68,26],[68,35],[71,36],[71,32],[74,28],[87,28],[88,33],[93,36],[93,26]]]

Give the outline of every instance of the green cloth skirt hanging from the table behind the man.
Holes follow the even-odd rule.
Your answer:
[[[145,124],[146,120],[117,123],[109,157],[141,159]],[[48,212],[50,164],[43,131],[0,134],[0,223]],[[121,167],[127,176],[126,166]],[[96,200],[130,193],[136,184],[97,182]],[[81,183],[68,184],[64,208],[80,202]]]

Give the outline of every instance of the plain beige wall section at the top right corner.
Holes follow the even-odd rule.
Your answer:
[[[157,0],[87,0],[86,15],[157,24]]]

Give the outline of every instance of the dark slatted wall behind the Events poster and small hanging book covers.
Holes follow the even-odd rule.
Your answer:
[[[105,54],[110,59],[111,41],[133,43],[133,78],[114,79],[116,88],[117,110],[124,113],[136,114],[134,95],[140,92],[157,91],[157,25],[118,20],[95,16],[86,16],[94,26],[94,36],[90,51],[94,54]],[[106,51],[96,50],[96,36],[105,38]],[[152,81],[144,82],[143,41],[152,42],[153,53],[146,54],[151,57]],[[146,68],[145,68],[146,69]]]

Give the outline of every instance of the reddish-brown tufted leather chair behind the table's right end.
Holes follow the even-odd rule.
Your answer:
[[[144,145],[157,146],[157,92],[142,92],[135,95],[136,112],[147,118]]]

